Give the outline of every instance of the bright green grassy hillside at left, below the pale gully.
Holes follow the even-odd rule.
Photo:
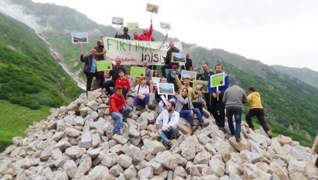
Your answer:
[[[34,30],[0,14],[0,150],[82,90]],[[14,105],[12,105],[14,104]],[[13,123],[14,122],[14,123]]]

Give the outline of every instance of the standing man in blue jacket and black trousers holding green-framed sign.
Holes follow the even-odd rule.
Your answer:
[[[222,64],[215,65],[216,73],[221,73],[223,70]],[[208,82],[208,89],[209,93],[212,94],[211,97],[211,114],[214,117],[217,125],[224,129],[224,123],[225,123],[225,112],[224,112],[224,104],[222,102],[224,92],[229,88],[230,85],[230,78],[228,74],[225,74],[225,82],[224,86],[219,86],[219,91],[217,91],[216,87],[211,88],[211,82],[209,78]],[[218,100],[219,96],[219,100]],[[219,110],[220,115],[217,113]]]

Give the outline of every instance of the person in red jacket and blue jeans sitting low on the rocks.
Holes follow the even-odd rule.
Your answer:
[[[116,120],[116,124],[113,129],[113,133],[120,134],[120,127],[123,121],[126,121],[129,113],[132,112],[132,108],[127,106],[125,98],[123,96],[123,87],[117,86],[115,93],[110,96],[109,113],[110,116]]]

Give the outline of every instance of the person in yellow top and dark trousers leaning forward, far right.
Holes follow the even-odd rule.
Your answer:
[[[269,138],[272,138],[273,135],[271,134],[268,125],[265,122],[264,118],[264,109],[261,103],[260,95],[258,92],[255,92],[255,88],[250,87],[248,89],[249,95],[247,96],[250,110],[248,111],[245,120],[248,124],[248,126],[254,130],[254,125],[252,123],[252,117],[256,116],[258,119],[259,123],[263,127],[264,131],[268,135]]]

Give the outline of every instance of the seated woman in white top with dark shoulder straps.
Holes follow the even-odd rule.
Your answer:
[[[149,86],[146,84],[146,77],[140,77],[138,81],[138,85],[135,87],[135,97],[134,97],[134,110],[136,110],[137,105],[145,105],[145,110],[150,112],[148,109],[149,105]]]

